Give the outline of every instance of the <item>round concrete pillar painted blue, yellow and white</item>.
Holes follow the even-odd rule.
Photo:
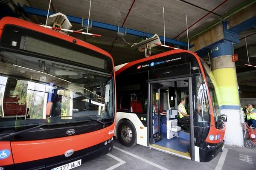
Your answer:
[[[239,92],[235,63],[232,62],[231,42],[221,42],[209,48],[212,73],[220,93],[220,109],[227,115],[226,142],[243,146],[243,132],[240,122]]]

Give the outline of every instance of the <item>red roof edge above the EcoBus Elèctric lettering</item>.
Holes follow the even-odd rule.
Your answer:
[[[192,51],[181,50],[181,49],[180,50],[170,50],[170,51],[166,51],[166,52],[163,52],[163,53],[160,53],[160,54],[156,54],[154,56],[150,56],[150,57],[146,57],[146,58],[143,58],[143,59],[138,59],[138,60],[135,60],[135,61],[132,61],[132,62],[127,62],[127,63],[121,64],[121,65],[117,65],[117,66],[115,66],[116,76],[118,74],[120,74],[122,71],[125,71],[127,68],[130,68],[131,66],[136,65],[140,62],[145,62],[145,61],[149,61],[149,60],[152,60],[152,59],[157,59],[157,58],[160,58],[160,57],[164,57],[164,56],[171,55],[171,54],[177,54],[177,53],[192,54],[193,56],[195,56],[195,58],[197,58],[198,62],[200,62],[198,55],[196,55],[196,53],[194,53]]]

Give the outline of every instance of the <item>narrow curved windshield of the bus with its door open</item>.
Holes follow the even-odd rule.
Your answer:
[[[211,69],[208,67],[208,65],[202,59],[201,59],[201,63],[204,68],[204,74],[206,75],[206,81],[207,81],[209,93],[210,93],[210,96],[212,99],[213,116],[214,116],[214,121],[215,121],[215,125],[216,125],[218,118],[221,117],[221,111],[219,108],[220,96],[218,93],[218,86],[217,86],[215,78],[212,74]]]

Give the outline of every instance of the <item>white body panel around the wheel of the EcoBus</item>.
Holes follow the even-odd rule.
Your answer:
[[[118,126],[119,126],[119,121],[122,119],[128,119],[134,125],[137,133],[136,134],[137,144],[147,146],[147,127],[145,127],[142,124],[142,122],[140,121],[140,119],[135,113],[116,112],[116,130],[115,130],[114,136],[116,136]],[[143,129],[141,129],[140,127],[143,127]]]

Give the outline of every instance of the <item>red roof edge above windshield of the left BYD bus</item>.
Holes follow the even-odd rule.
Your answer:
[[[41,32],[41,33],[44,33],[44,34],[47,34],[47,35],[50,35],[50,36],[53,36],[53,37],[60,38],[60,39],[65,40],[65,41],[72,42],[72,43],[74,43],[73,40],[76,40],[77,45],[80,45],[80,46],[83,46],[83,47],[86,47],[86,48],[90,48],[93,51],[104,54],[105,56],[110,57],[112,59],[112,62],[113,62],[112,56],[107,51],[104,51],[101,48],[96,47],[95,45],[92,45],[88,42],[84,42],[84,41],[79,40],[79,39],[77,39],[75,37],[72,37],[70,35],[63,34],[63,33],[60,33],[58,31],[55,31],[55,30],[52,30],[52,29],[49,29],[49,28],[44,28],[42,26],[39,26],[38,24],[31,23],[31,22],[28,22],[28,21],[25,21],[25,20],[20,20],[18,18],[14,18],[14,17],[3,17],[0,20],[0,36],[1,36],[2,31],[3,31],[3,27],[5,25],[8,25],[8,24],[14,25],[14,26],[20,26],[20,27],[23,27],[23,28],[28,28],[30,30],[38,31],[38,32]]]

